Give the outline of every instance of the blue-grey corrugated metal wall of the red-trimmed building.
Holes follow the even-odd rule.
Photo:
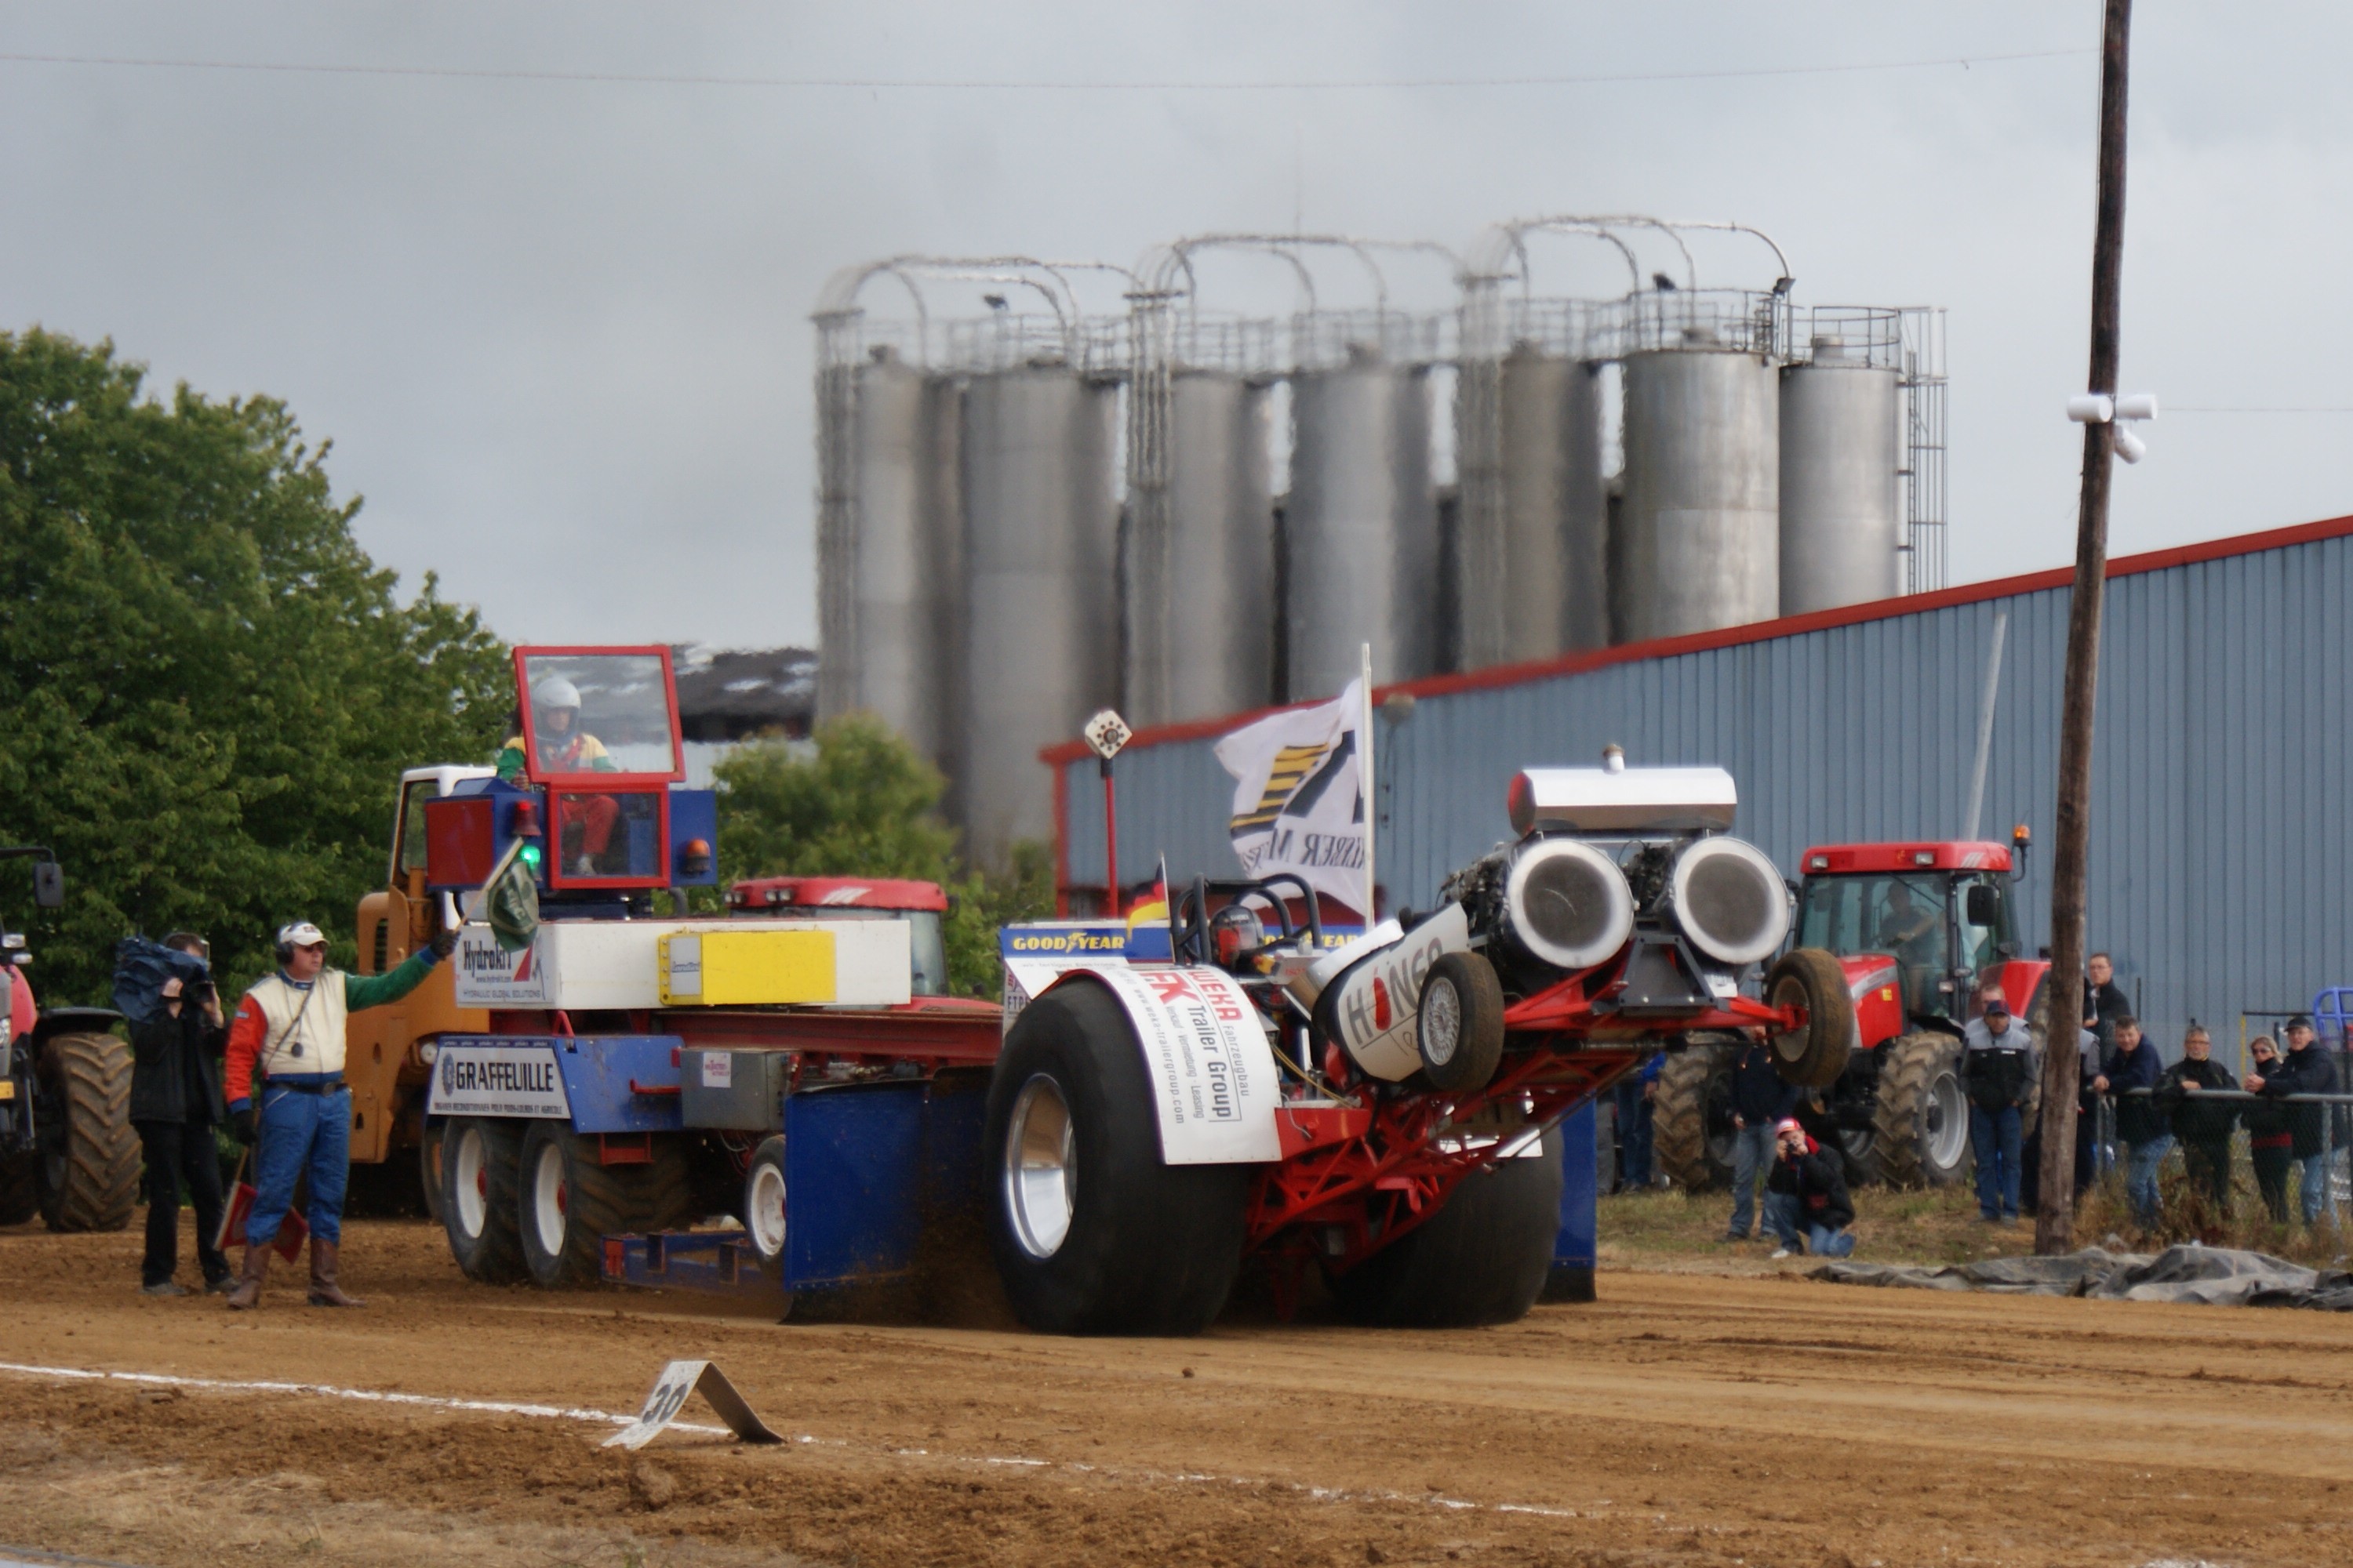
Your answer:
[[[2172,1056],[2191,1018],[2235,1039],[2242,1009],[2353,983],[2348,637],[2353,538],[2325,536],[2108,583],[2092,806],[2092,947]],[[2026,940],[2049,926],[2068,590],[1421,696],[1379,719],[1381,886],[1426,905],[1508,835],[1522,766],[1722,764],[1741,837],[1795,875],[1807,844],[1958,837],[1995,611],[2009,611],[1984,837],[2028,823]],[[1120,875],[1233,875],[1233,780],[1214,741],[1120,757]],[[1071,886],[1101,886],[1092,762],[1068,764]],[[2233,1056],[2224,1046],[2226,1060]]]

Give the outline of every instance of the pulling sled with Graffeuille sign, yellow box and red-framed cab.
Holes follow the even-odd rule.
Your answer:
[[[680,788],[668,649],[513,658],[520,769],[402,773],[360,971],[456,924],[501,867],[529,882],[536,933],[506,947],[466,922],[409,997],[353,1013],[355,1173],[416,1161],[452,1255],[489,1284],[626,1276],[621,1237],[645,1276],[645,1237],[664,1234],[652,1284],[732,1281],[739,1260],[746,1281],[765,1269],[786,1288],[908,1272],[932,1197],[908,1178],[927,1138],[972,1164],[998,1053],[995,1004],[944,994],[941,891],[772,877],[689,917],[685,889],[718,882],[718,804]],[[795,1225],[788,1255],[788,1180],[871,1222]],[[706,1215],[746,1225],[720,1241],[680,1229]]]

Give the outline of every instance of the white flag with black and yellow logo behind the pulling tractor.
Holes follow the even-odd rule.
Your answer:
[[[1297,872],[1351,910],[1365,905],[1362,682],[1329,703],[1275,712],[1217,743],[1233,773],[1233,853],[1245,877]]]

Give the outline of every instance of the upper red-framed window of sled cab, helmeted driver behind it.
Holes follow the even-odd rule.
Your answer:
[[[532,780],[685,778],[666,649],[518,649],[515,672]]]

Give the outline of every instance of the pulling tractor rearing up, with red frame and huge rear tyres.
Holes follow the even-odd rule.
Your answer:
[[[1722,769],[1520,773],[1518,839],[1426,914],[1325,952],[1289,877],[1193,882],[1169,959],[1082,954],[1026,997],[988,1091],[1005,1291],[1049,1333],[1198,1333],[1245,1258],[1362,1324],[1511,1321],[1546,1284],[1558,1124],[1689,1037],[1758,1034],[1833,1084],[1838,959],[1727,837]],[[1292,907],[1308,910],[1294,922]]]

